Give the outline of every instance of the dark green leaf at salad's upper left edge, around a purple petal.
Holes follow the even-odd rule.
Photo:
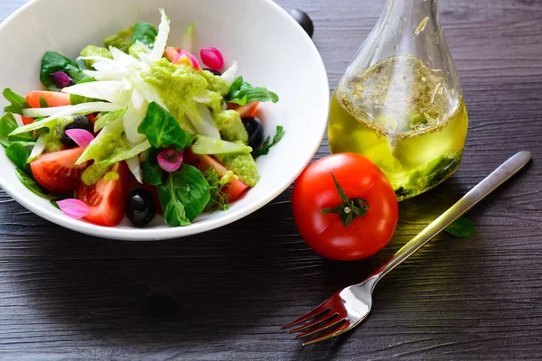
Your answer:
[[[42,58],[42,71],[40,73],[40,80],[45,88],[57,91],[61,90],[51,78],[51,74],[57,71],[68,74],[71,82],[76,84],[82,79],[89,78],[74,61],[62,56],[58,52],[47,51]]]

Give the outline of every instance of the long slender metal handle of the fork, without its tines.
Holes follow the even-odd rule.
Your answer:
[[[517,153],[508,161],[500,165],[499,168],[465,194],[462,199],[459,199],[457,203],[446,210],[439,218],[436,218],[429,226],[425,227],[419,235],[412,238],[406,245],[399,249],[388,262],[382,264],[374,273],[371,273],[368,279],[372,278],[374,282],[373,286],[388,272],[405,261],[406,258],[416,253],[418,249],[444,231],[444,228],[450,226],[455,220],[467,213],[472,207],[480,202],[481,199],[486,197],[493,190],[496,190],[502,183],[509,180],[514,174],[527,165],[530,159],[531,153],[524,151]]]

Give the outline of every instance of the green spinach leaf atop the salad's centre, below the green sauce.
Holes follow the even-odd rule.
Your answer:
[[[157,149],[173,147],[182,152],[193,142],[192,134],[183,131],[170,112],[156,102],[149,104],[137,132],[145,134],[151,145]]]

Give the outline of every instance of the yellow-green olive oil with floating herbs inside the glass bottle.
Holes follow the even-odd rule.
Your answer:
[[[367,156],[398,199],[448,178],[461,162],[468,122],[463,97],[450,94],[440,73],[416,58],[393,57],[351,77],[332,97],[332,153]]]

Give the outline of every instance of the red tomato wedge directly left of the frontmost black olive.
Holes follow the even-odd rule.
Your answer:
[[[117,171],[118,179],[107,176],[92,186],[81,182],[77,190],[77,199],[89,206],[86,218],[98,226],[114,227],[125,217],[130,171],[126,162],[115,164],[111,171]]]

